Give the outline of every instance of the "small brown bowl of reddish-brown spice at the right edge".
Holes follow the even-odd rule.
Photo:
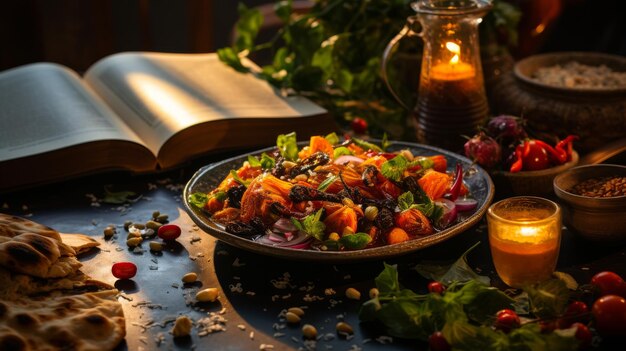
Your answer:
[[[570,230],[592,241],[626,241],[626,166],[574,167],[553,185]]]

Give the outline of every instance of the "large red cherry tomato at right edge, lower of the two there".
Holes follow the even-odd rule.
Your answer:
[[[626,336],[626,299],[617,295],[602,296],[593,303],[591,311],[602,336]]]

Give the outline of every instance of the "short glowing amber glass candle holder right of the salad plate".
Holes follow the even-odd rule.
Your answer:
[[[504,199],[487,211],[489,246],[496,272],[521,288],[552,276],[561,245],[561,209],[532,196]]]

